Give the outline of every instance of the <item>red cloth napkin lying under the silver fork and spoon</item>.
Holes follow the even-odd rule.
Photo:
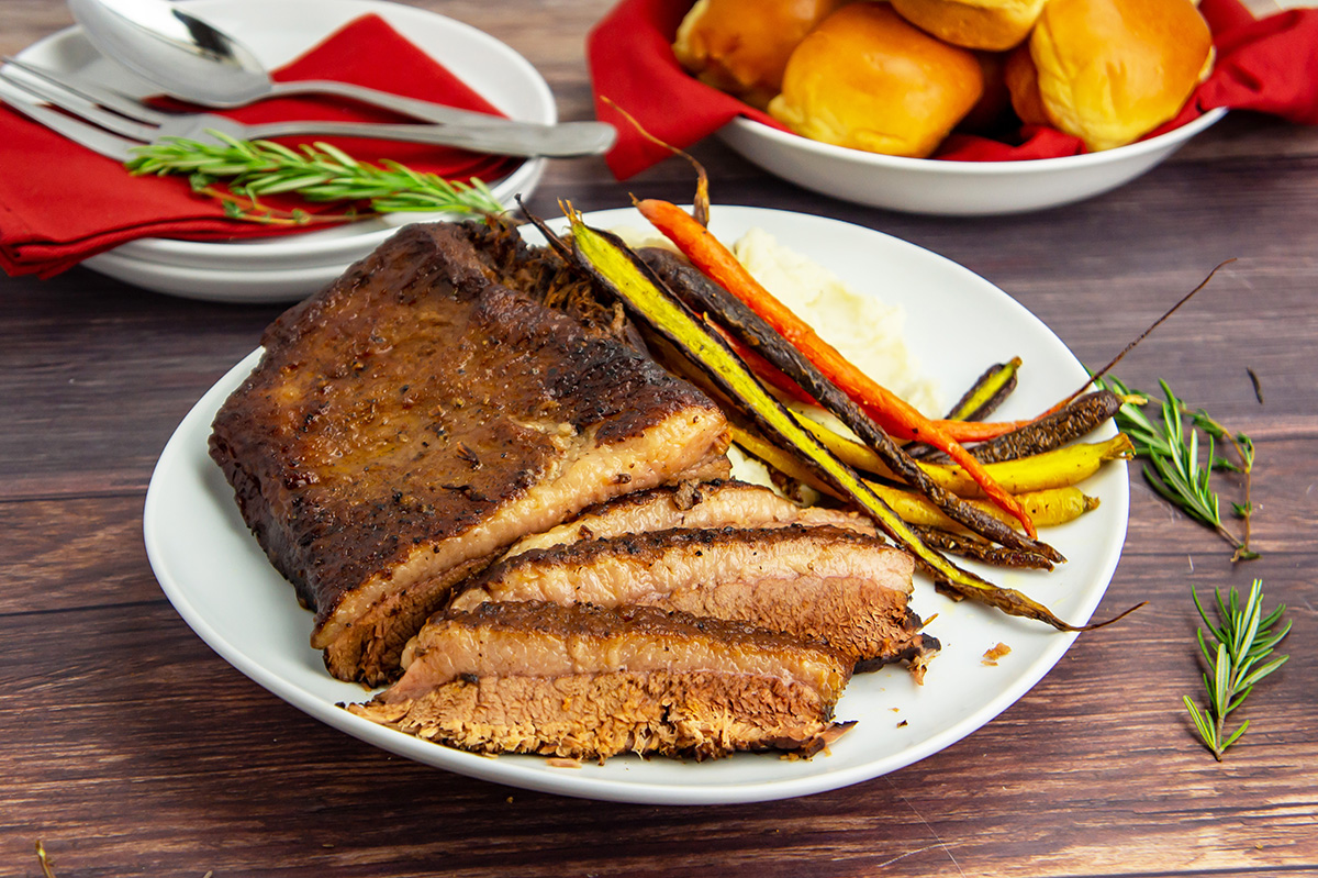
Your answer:
[[[337,79],[463,109],[498,113],[484,98],[414,46],[382,18],[352,21],[274,73],[281,82]],[[333,98],[293,96],[225,111],[244,123],[293,119],[415,121]],[[521,160],[444,146],[364,138],[324,140],[362,161],[393,158],[422,171],[490,182]],[[274,202],[272,202],[274,203]],[[283,202],[287,206],[291,202]],[[337,210],[299,204],[310,211]],[[0,268],[50,277],[82,260],[140,237],[237,240],[297,233],[306,227],[257,225],[224,219],[217,202],[194,195],[183,177],[130,177],[109,158],[78,146],[0,104]]]

